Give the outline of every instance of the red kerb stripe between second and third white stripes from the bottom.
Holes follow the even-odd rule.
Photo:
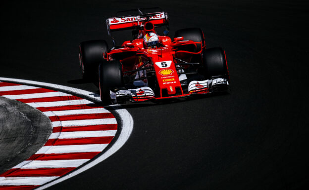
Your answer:
[[[100,152],[51,153],[33,154],[27,160],[63,160],[63,159],[91,159]]]

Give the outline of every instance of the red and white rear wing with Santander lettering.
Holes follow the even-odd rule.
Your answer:
[[[140,9],[137,9],[139,14],[129,16],[116,16],[106,19],[107,32],[119,30],[128,30],[141,27],[145,21],[152,22],[155,27],[168,25],[167,13],[164,11],[153,13],[142,13]]]

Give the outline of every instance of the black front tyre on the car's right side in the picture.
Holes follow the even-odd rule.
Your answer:
[[[229,81],[227,62],[222,48],[214,47],[204,49],[202,59],[204,64],[204,76],[206,79],[214,76],[221,76]]]

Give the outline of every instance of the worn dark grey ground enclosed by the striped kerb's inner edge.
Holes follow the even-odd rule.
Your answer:
[[[16,100],[0,97],[0,173],[26,160],[51,135],[50,119]]]

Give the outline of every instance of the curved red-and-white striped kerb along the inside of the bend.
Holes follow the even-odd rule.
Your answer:
[[[52,123],[51,136],[38,152],[0,174],[0,190],[30,190],[55,180],[102,152],[117,132],[114,115],[71,94],[0,82],[0,96],[40,110]]]

